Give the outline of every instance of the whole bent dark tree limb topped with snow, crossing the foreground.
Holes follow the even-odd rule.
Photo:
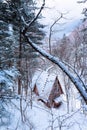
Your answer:
[[[85,85],[82,83],[82,80],[78,77],[76,77],[74,74],[72,74],[72,72],[70,72],[66,65],[60,61],[59,58],[56,58],[54,56],[52,56],[51,54],[47,53],[46,51],[44,51],[42,48],[38,47],[35,43],[33,43],[31,41],[31,39],[29,39],[29,37],[27,36],[27,29],[38,19],[39,15],[41,14],[43,8],[45,6],[45,0],[43,0],[43,4],[38,12],[38,14],[36,15],[36,17],[29,23],[29,25],[26,27],[25,24],[25,28],[22,32],[23,36],[26,38],[27,43],[29,45],[31,45],[33,47],[33,49],[35,49],[37,52],[39,52],[42,56],[44,56],[45,58],[49,59],[50,61],[52,61],[53,63],[55,63],[56,65],[58,65],[58,67],[64,72],[66,73],[66,75],[69,77],[69,79],[72,81],[72,83],[76,86],[76,88],[78,89],[79,93],[81,94],[81,96],[83,97],[84,101],[87,103],[87,92],[85,91]],[[22,21],[24,21],[24,18],[21,19]]]

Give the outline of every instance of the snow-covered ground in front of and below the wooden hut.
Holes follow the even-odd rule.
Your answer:
[[[3,118],[0,130],[87,130],[87,116],[81,109],[67,114],[64,102],[59,109],[49,109],[35,98],[31,109],[28,99],[21,104],[17,99],[10,102],[7,111],[9,123]]]

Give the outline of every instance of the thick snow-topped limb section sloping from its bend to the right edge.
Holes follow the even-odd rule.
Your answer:
[[[27,36],[25,36],[27,42],[29,45],[31,45],[37,52],[39,52],[42,56],[44,56],[45,58],[49,59],[51,62],[55,63],[56,65],[58,65],[58,67],[64,72],[66,73],[66,75],[70,78],[70,80],[72,81],[72,83],[76,86],[76,88],[78,89],[79,93],[81,94],[81,96],[83,97],[84,101],[87,103],[87,92],[85,91],[85,86],[83,85],[82,81],[78,78],[75,77],[75,75],[73,75],[66,67],[66,65],[60,61],[59,58],[56,58],[54,56],[52,56],[51,54],[47,53],[45,50],[43,50],[42,48],[38,47],[35,43],[33,43]]]

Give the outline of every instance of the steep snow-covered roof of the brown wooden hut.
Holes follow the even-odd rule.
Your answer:
[[[36,82],[34,81],[34,84],[36,84],[37,86],[40,97],[46,100],[48,99],[50,92],[52,90],[53,84],[55,82],[55,79],[56,79],[56,75],[55,74],[49,75],[47,71],[43,71],[38,76],[38,78],[36,79]]]

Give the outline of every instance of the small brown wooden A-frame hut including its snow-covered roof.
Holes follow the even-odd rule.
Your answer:
[[[61,94],[63,90],[58,77],[43,72],[36,81],[33,92],[38,96],[38,101],[43,102],[47,107],[59,107],[62,103]]]

